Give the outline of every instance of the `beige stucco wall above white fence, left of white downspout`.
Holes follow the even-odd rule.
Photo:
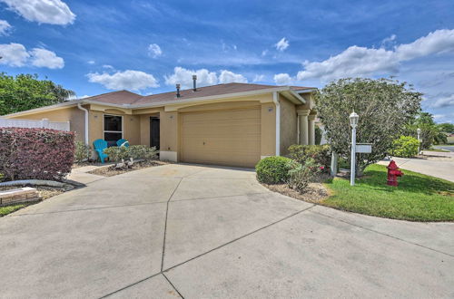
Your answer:
[[[10,118],[19,120],[49,119],[49,121],[69,121],[70,130],[75,132],[75,140],[84,141],[84,111],[79,110],[77,107],[30,113],[26,115],[12,116]]]

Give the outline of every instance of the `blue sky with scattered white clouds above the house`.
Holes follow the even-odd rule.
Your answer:
[[[0,72],[82,98],[227,82],[389,78],[454,122],[454,1],[0,0]]]

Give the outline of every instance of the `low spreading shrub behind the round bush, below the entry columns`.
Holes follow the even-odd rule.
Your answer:
[[[324,171],[328,171],[331,165],[331,148],[328,144],[323,145],[291,145],[289,148],[291,159],[304,164],[307,159],[315,159]]]

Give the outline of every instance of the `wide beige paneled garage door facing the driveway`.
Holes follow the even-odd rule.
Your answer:
[[[184,162],[253,167],[260,160],[260,108],[183,113]]]

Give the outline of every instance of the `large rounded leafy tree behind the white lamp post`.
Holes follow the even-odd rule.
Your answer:
[[[315,95],[317,111],[331,148],[350,156],[349,115],[360,115],[357,142],[371,143],[370,154],[358,154],[358,173],[383,159],[399,138],[405,125],[420,109],[421,93],[407,82],[390,79],[341,79],[331,82]]]

